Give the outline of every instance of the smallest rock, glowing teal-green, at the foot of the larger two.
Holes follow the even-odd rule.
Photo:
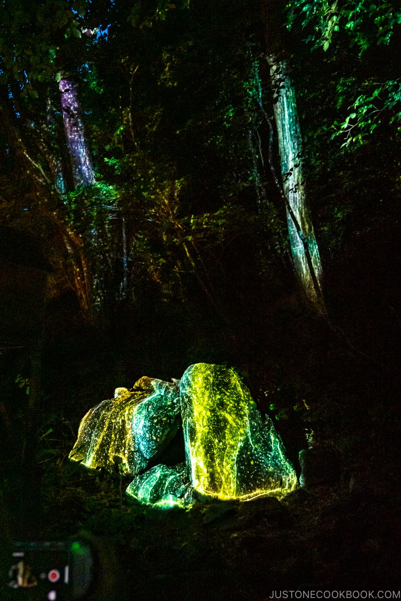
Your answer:
[[[162,508],[188,508],[195,502],[185,464],[174,468],[155,465],[132,480],[126,495],[131,501]]]

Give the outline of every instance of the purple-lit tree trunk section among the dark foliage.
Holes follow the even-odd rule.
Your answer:
[[[94,171],[81,119],[77,85],[69,79],[61,79],[59,87],[74,185],[90,186],[94,182]]]

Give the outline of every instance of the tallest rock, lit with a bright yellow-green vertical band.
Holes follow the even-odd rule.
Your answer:
[[[199,363],[180,382],[185,452],[194,489],[219,499],[251,499],[297,486],[271,419],[263,423],[233,370]]]

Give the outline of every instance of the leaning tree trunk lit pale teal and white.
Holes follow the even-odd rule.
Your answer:
[[[268,56],[268,64],[275,93],[274,117],[293,266],[308,301],[319,313],[325,313],[321,287],[322,265],[305,202],[303,148],[295,90],[284,60],[271,54]]]

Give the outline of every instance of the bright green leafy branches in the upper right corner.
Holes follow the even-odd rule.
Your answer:
[[[337,84],[337,106],[340,115],[334,120],[335,132],[341,148],[360,145],[382,122],[401,120],[400,81],[391,68],[394,56],[389,50],[380,53],[378,46],[394,47],[401,33],[401,9],[394,2],[361,0],[338,2],[328,0],[294,0],[289,4],[287,26],[295,28],[301,19],[308,35],[305,41],[312,49],[331,50],[327,63],[345,60],[353,63],[366,61],[375,65],[377,75],[370,68],[367,76],[345,76]],[[390,61],[389,61],[390,59]],[[395,66],[395,65],[394,65]],[[360,67],[364,71],[365,68]],[[388,77],[390,75],[390,77]],[[381,78],[376,79],[376,77]],[[344,103],[347,103],[344,106]],[[345,111],[344,111],[345,109]]]

